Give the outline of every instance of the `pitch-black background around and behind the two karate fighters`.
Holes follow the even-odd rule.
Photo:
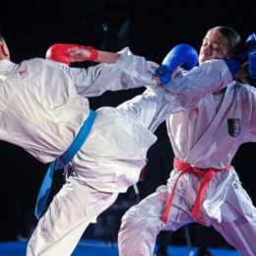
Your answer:
[[[199,50],[205,33],[215,26],[229,26],[244,39],[251,32],[256,32],[253,2],[8,0],[0,6],[0,26],[14,62],[44,57],[52,43],[74,42],[107,51],[129,46],[134,54],[160,63],[177,43],[189,43]],[[87,67],[93,63],[82,65]],[[105,93],[91,99],[92,108],[117,105],[143,91]],[[159,141],[166,138],[164,124],[157,135]],[[0,240],[5,240],[12,239],[17,233],[23,236],[30,234],[31,223],[35,224],[33,206],[47,166],[4,142],[0,143],[0,153]],[[254,156],[255,145],[246,144],[239,149],[232,163],[255,202]],[[61,174],[57,177],[61,178]]]

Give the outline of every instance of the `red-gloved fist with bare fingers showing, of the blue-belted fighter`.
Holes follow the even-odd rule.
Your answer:
[[[46,51],[46,59],[70,65],[70,62],[94,61],[98,51],[91,46],[71,43],[56,43]]]

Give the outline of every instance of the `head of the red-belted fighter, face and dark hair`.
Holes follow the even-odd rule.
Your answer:
[[[202,42],[199,64],[210,59],[229,59],[240,50],[242,39],[229,27],[215,27],[209,30]]]

